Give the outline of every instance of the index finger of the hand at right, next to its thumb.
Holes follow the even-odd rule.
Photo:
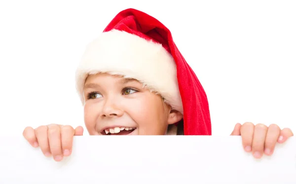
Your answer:
[[[252,151],[254,126],[255,125],[253,123],[246,122],[240,128],[240,135],[242,137],[243,147],[247,152]]]

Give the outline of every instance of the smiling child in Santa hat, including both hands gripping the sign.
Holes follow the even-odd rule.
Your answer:
[[[175,45],[170,31],[148,14],[119,12],[98,39],[90,43],[76,71],[76,88],[90,135],[211,135],[207,96]],[[61,161],[72,151],[82,127],[50,124],[26,127],[23,135],[45,156]],[[231,135],[260,158],[277,142],[293,136],[247,122]]]

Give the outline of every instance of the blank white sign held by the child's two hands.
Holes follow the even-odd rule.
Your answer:
[[[81,136],[62,162],[0,139],[0,184],[296,184],[296,139],[255,159],[240,136]]]

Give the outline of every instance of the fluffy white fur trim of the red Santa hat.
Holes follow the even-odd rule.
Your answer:
[[[76,89],[82,104],[85,79],[97,73],[137,79],[183,113],[176,64],[161,44],[123,31],[104,32],[87,46],[76,70]]]

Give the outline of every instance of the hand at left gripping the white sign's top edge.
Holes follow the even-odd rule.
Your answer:
[[[33,146],[40,146],[46,157],[53,156],[55,161],[61,161],[64,156],[71,155],[73,136],[82,136],[83,128],[73,128],[70,125],[43,125],[36,129],[26,127],[23,136]]]

